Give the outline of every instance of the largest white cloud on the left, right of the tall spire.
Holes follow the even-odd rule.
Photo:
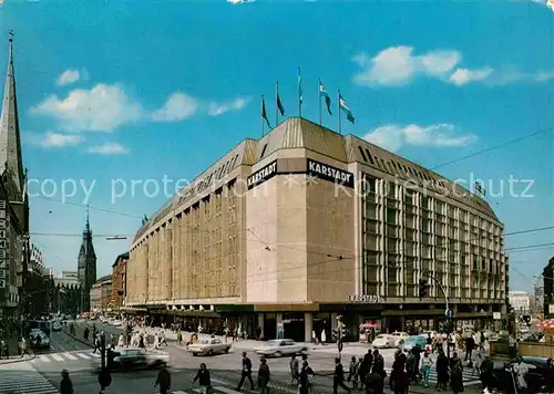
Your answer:
[[[141,118],[143,110],[122,86],[98,84],[73,90],[65,98],[50,95],[31,112],[58,120],[65,131],[111,132]]]

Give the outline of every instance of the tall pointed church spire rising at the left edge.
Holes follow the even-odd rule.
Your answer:
[[[18,101],[16,96],[16,74],[13,72],[13,31],[10,29],[8,72],[0,118],[0,169],[8,169],[20,190],[24,186],[21,136],[19,131]]]

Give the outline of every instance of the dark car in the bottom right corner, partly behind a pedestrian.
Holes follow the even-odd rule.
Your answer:
[[[517,387],[516,364],[524,363],[527,373],[524,379],[527,388]],[[551,393],[554,390],[552,359],[517,356],[493,371],[493,388],[504,393]]]

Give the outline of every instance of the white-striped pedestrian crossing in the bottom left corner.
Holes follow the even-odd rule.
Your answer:
[[[0,365],[2,394],[60,394],[29,362]]]

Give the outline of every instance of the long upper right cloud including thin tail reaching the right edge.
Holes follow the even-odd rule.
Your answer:
[[[358,85],[401,86],[418,76],[434,77],[445,83],[463,86],[469,83],[484,83],[490,86],[516,82],[545,82],[554,79],[554,72],[524,73],[517,69],[493,69],[489,65],[468,69],[460,66],[462,55],[454,50],[414,53],[412,46],[390,46],[371,58],[360,52],[352,58],[360,66],[353,82]]]

